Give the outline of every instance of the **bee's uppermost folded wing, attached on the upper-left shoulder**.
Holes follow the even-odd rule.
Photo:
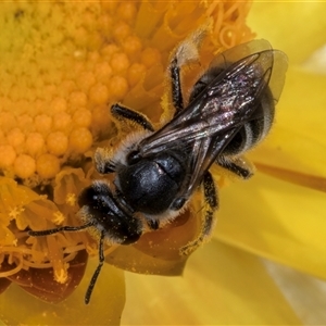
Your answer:
[[[256,109],[271,76],[277,79],[273,71],[274,57],[278,53],[281,52],[264,50],[227,66],[185,110],[141,141],[141,154],[148,155],[166,147],[179,147],[180,143],[192,143],[204,138],[217,139],[218,135],[243,125]],[[284,80],[284,73],[280,76]],[[274,84],[277,86],[277,83]]]

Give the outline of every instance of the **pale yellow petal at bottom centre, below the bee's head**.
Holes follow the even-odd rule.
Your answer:
[[[184,277],[127,274],[123,325],[299,325],[261,261],[212,240]],[[138,309],[141,306],[141,309]]]

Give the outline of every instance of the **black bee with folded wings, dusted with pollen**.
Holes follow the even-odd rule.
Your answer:
[[[130,122],[138,133],[124,139],[116,151],[99,148],[95,166],[114,174],[113,184],[95,180],[78,198],[80,226],[34,231],[95,228],[99,234],[99,265],[86,292],[86,304],[104,263],[103,243],[129,244],[146,230],[172,222],[187,206],[192,193],[203,190],[204,218],[197,239],[180,249],[192,252],[212,233],[218,208],[210,167],[217,164],[242,179],[252,168],[242,154],[268,134],[287,70],[287,57],[265,40],[253,40],[217,55],[195,83],[187,104],[180,70],[198,60],[202,34],[195,34],[174,51],[168,66],[173,118],[155,130],[149,118],[120,103],[112,115]]]

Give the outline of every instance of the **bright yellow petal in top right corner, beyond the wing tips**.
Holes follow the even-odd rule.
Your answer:
[[[325,10],[322,1],[254,1],[248,25],[298,64],[325,43]]]

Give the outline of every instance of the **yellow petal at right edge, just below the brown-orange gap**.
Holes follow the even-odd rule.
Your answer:
[[[258,173],[221,191],[215,237],[326,278],[326,195]]]

